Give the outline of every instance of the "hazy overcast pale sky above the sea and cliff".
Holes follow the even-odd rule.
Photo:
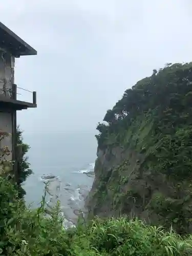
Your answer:
[[[137,80],[192,60],[191,11],[191,0],[2,1],[1,22],[38,51],[16,60],[17,86],[37,91],[22,129],[95,129]]]

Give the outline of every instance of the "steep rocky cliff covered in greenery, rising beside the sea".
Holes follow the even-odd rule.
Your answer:
[[[97,130],[88,218],[138,217],[192,231],[192,63],[127,89]]]

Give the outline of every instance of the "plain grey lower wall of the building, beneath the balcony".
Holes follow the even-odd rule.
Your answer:
[[[4,148],[4,146],[8,146],[10,151],[10,155],[4,157],[6,160],[12,160],[13,156],[13,138],[12,138],[12,113],[11,112],[2,112],[0,110],[0,132],[7,132],[10,135],[5,137],[0,141],[0,149]],[[0,136],[1,139],[1,136]]]

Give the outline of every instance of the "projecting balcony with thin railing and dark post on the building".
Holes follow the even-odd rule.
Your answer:
[[[32,102],[27,102],[27,101],[17,99],[17,96],[21,95],[22,91],[28,92],[31,94]],[[24,110],[24,109],[36,108],[36,107],[37,107],[36,92],[32,92],[24,88],[17,87],[16,84],[12,84],[10,88],[0,89],[0,108],[12,109],[12,110]]]

